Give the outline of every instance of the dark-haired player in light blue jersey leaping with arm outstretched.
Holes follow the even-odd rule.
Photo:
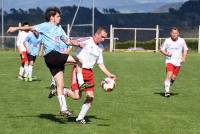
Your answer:
[[[49,7],[45,12],[46,22],[35,26],[29,27],[9,27],[7,32],[15,32],[17,30],[36,30],[42,36],[44,44],[44,59],[47,67],[53,75],[57,84],[58,102],[60,105],[60,114],[64,116],[72,115],[68,111],[65,96],[63,95],[64,89],[64,67],[66,62],[76,62],[71,55],[60,53],[60,44],[75,45],[81,47],[77,40],[69,40],[63,28],[61,27],[60,10],[57,7]]]

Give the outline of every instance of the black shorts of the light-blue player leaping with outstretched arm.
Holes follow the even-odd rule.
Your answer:
[[[68,56],[68,54],[61,54],[57,51],[51,51],[44,56],[45,63],[53,76],[64,71]]]

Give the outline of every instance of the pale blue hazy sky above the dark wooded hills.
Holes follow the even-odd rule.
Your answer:
[[[48,6],[71,6],[78,5],[79,0],[1,0],[2,7],[6,11],[9,11],[11,8],[35,8],[40,7],[42,9],[47,8]],[[115,8],[118,11],[122,12],[142,12],[149,11],[150,8],[155,8],[156,6],[164,5],[166,3],[174,2],[185,2],[187,0],[94,0],[95,6],[97,8]],[[148,8],[145,6],[148,5]],[[152,5],[152,6],[151,6]],[[82,0],[81,6],[92,7],[92,0]]]

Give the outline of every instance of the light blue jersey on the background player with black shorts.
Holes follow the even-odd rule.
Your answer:
[[[39,34],[38,38],[31,33],[25,38],[25,43],[30,50],[30,55],[36,56],[39,54],[42,37]]]

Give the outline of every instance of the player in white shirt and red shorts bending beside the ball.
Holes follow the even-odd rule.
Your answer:
[[[103,42],[106,37],[106,30],[103,27],[99,27],[93,37],[82,38],[79,40],[81,43],[85,44],[85,47],[79,48],[76,52],[76,56],[82,63],[82,74],[84,81],[89,83],[90,85],[94,85],[94,76],[92,69],[95,63],[98,64],[99,68],[106,76],[116,79],[116,76],[109,72],[103,62],[103,45],[101,44],[101,42]],[[71,90],[65,90],[65,95],[70,96],[73,99],[80,99],[81,95],[79,94],[78,90],[76,69],[77,68],[74,67]],[[80,124],[86,123],[84,117],[90,109],[94,99],[94,86],[86,88],[84,89],[84,91],[86,93],[86,99],[84,101],[84,104],[82,105],[78,117],[76,118],[76,122]]]

